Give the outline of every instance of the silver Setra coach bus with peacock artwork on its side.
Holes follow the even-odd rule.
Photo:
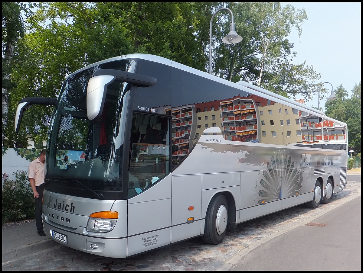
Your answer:
[[[54,105],[44,231],[125,258],[192,237],[219,244],[238,223],[346,187],[347,125],[246,82],[148,54],[69,75]]]

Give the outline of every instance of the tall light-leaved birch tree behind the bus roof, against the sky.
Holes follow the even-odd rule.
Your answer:
[[[243,40],[236,45],[218,43],[227,33],[223,34],[217,27],[221,20],[214,24],[213,28],[217,29],[214,73],[233,82],[244,80],[256,84],[288,98],[302,95],[306,100],[311,99],[318,91],[319,85],[315,82],[321,75],[305,62],[292,63],[296,53],[286,39],[293,27],[301,34],[301,24],[307,19],[305,10],[265,2],[228,3],[227,6],[233,11],[236,31]],[[230,18],[222,22],[223,29],[228,29]]]

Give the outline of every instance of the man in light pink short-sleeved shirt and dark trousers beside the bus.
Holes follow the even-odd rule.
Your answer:
[[[44,170],[45,170],[45,152],[42,150],[40,156],[30,162],[28,167],[29,182],[33,189],[35,198],[35,223],[37,225],[38,235],[46,236],[43,230],[42,213],[43,213],[43,190],[44,190]]]

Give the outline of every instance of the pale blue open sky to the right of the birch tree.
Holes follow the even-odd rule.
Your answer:
[[[331,83],[333,90],[342,84],[350,98],[353,87],[361,80],[361,3],[281,2],[282,7],[285,5],[303,8],[308,16],[301,25],[301,37],[295,28],[287,37],[297,53],[293,63],[306,61],[305,65],[312,65],[321,74],[319,82]],[[331,91],[329,83],[323,87]],[[320,98],[323,111],[325,101]],[[318,96],[305,103],[317,108]]]

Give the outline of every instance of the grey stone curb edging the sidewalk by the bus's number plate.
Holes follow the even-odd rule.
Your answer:
[[[56,247],[59,245],[56,241],[52,239],[45,239],[43,241],[32,243],[28,245],[23,245],[21,247],[8,249],[3,251],[3,263],[17,258],[23,257],[25,255],[33,254],[42,251],[47,248]]]

